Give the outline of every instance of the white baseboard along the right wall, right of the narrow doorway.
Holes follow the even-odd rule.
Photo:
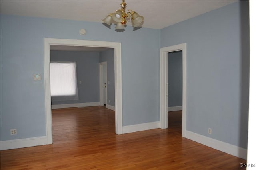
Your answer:
[[[218,141],[216,139],[212,139],[210,137],[206,137],[191,131],[186,131],[185,137],[191,139],[192,141],[196,141],[213,149],[220,150],[242,159],[246,159],[247,157],[247,149],[231,145],[229,143]]]

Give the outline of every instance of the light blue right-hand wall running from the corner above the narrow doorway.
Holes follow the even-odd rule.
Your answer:
[[[243,148],[248,133],[248,19],[248,1],[241,1],[160,33],[160,47],[187,43],[186,130]]]

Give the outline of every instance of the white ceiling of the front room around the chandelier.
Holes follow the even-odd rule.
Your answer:
[[[144,16],[142,27],[162,29],[226,6],[234,0],[126,0],[126,10]],[[102,22],[122,0],[1,0],[1,14]],[[130,25],[128,23],[127,25]]]

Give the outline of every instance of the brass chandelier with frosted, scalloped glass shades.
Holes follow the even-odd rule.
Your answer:
[[[121,9],[116,10],[116,12],[109,14],[102,21],[108,25],[114,23],[116,29],[124,29],[127,21],[132,21],[132,27],[142,27],[144,17],[140,16],[137,12],[128,10],[125,12],[126,3],[122,0]]]

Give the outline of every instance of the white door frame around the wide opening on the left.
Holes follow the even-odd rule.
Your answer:
[[[76,39],[44,38],[44,90],[47,144],[52,143],[52,110],[50,96],[50,45],[108,47],[114,48],[115,67],[115,122],[116,134],[122,134],[122,62],[121,43],[105,41],[87,41]]]

